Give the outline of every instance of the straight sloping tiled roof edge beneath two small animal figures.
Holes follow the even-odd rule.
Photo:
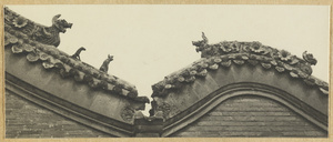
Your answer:
[[[12,53],[26,54],[30,62],[40,62],[47,70],[57,70],[63,78],[73,78],[77,82],[84,82],[92,89],[101,89],[107,92],[127,97],[140,102],[149,102],[147,97],[138,97],[134,85],[100,71],[82,61],[70,58],[65,52],[54,45],[36,41],[29,27],[44,27],[26,19],[18,13],[4,9],[4,48],[11,48]],[[16,22],[14,19],[21,20]]]

